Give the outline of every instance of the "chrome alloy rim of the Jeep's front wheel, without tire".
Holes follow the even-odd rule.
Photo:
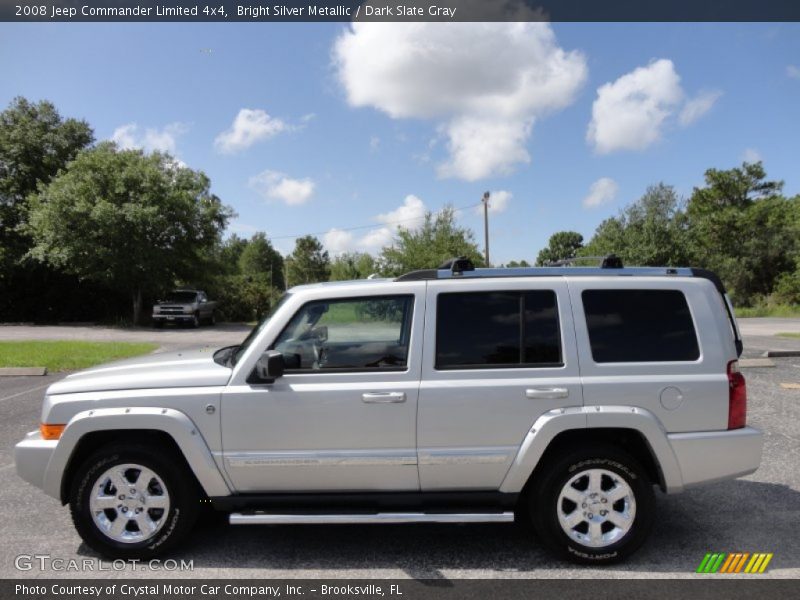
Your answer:
[[[95,480],[89,510],[97,528],[125,544],[144,542],[163,527],[169,493],[161,478],[142,465],[115,465]]]

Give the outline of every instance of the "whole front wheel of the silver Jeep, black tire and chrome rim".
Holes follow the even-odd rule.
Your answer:
[[[86,544],[104,556],[148,559],[188,535],[198,512],[197,485],[179,461],[165,456],[164,448],[117,444],[81,465],[70,511]]]

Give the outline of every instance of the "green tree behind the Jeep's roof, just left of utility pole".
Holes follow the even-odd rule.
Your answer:
[[[398,276],[416,269],[432,269],[449,258],[466,256],[483,265],[483,257],[469,229],[456,225],[455,209],[445,207],[438,214],[426,213],[418,230],[399,228],[391,246],[381,251],[381,270]]]

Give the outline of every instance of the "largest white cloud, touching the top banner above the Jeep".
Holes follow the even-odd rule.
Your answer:
[[[533,124],[568,106],[586,59],[546,23],[353,23],[333,58],[348,102],[435,119],[442,177],[475,181],[527,163]]]

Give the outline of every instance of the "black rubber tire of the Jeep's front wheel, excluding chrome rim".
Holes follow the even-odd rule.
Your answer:
[[[87,458],[75,473],[69,494],[72,522],[83,541],[103,556],[140,560],[163,555],[182,542],[197,519],[200,493],[194,477],[181,462],[167,448],[133,443],[104,446]],[[169,510],[163,517],[163,525],[150,538],[136,542],[108,537],[95,524],[90,509],[91,493],[103,474],[115,465],[129,463],[153,471],[169,494]]]

